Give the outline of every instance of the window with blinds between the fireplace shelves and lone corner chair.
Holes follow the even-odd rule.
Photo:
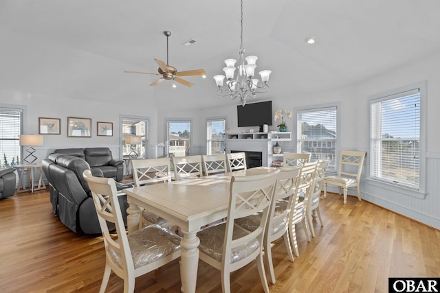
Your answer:
[[[298,109],[296,150],[311,154],[311,161],[330,159],[328,171],[336,171],[337,106]]]

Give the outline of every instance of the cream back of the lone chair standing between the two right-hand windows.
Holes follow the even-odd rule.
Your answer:
[[[342,150],[340,152],[338,175],[356,178],[359,182],[365,156],[366,152],[363,151]]]

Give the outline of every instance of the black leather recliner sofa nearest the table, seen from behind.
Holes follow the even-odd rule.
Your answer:
[[[44,159],[42,165],[49,181],[52,210],[61,222],[74,232],[101,233],[91,191],[83,178],[84,170],[91,169],[89,163],[78,156],[54,153]],[[94,176],[103,175],[99,168],[91,169],[91,172]],[[131,187],[116,184],[119,190]],[[129,207],[126,196],[120,196],[120,206],[126,220],[126,209]]]

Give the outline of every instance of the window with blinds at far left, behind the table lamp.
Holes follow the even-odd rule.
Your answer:
[[[22,108],[0,107],[0,167],[9,167],[20,163],[22,128]]]

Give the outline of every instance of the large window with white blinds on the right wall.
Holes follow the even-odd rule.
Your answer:
[[[371,98],[370,114],[371,178],[419,190],[421,88]]]

